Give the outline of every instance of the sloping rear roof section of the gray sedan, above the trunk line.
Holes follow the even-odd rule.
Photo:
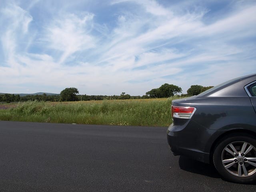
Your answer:
[[[198,97],[246,97],[244,86],[256,81],[256,73],[238,77],[214,86],[198,95]]]

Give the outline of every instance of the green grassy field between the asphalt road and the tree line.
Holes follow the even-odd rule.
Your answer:
[[[0,106],[0,120],[99,125],[169,126],[174,98],[20,102]]]

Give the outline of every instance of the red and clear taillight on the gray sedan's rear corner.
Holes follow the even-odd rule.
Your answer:
[[[174,118],[191,118],[194,112],[196,111],[195,107],[185,107],[185,106],[172,106],[172,117]]]

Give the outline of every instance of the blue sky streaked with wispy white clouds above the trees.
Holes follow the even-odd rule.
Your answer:
[[[256,73],[255,0],[0,0],[0,92],[143,95]]]

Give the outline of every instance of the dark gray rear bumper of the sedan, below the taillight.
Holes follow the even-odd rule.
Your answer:
[[[182,155],[204,163],[210,163],[210,152],[204,152],[204,139],[202,133],[191,134],[186,127],[171,124],[167,130],[167,141],[174,155]],[[200,129],[198,129],[200,130]],[[196,135],[196,136],[194,136]]]

